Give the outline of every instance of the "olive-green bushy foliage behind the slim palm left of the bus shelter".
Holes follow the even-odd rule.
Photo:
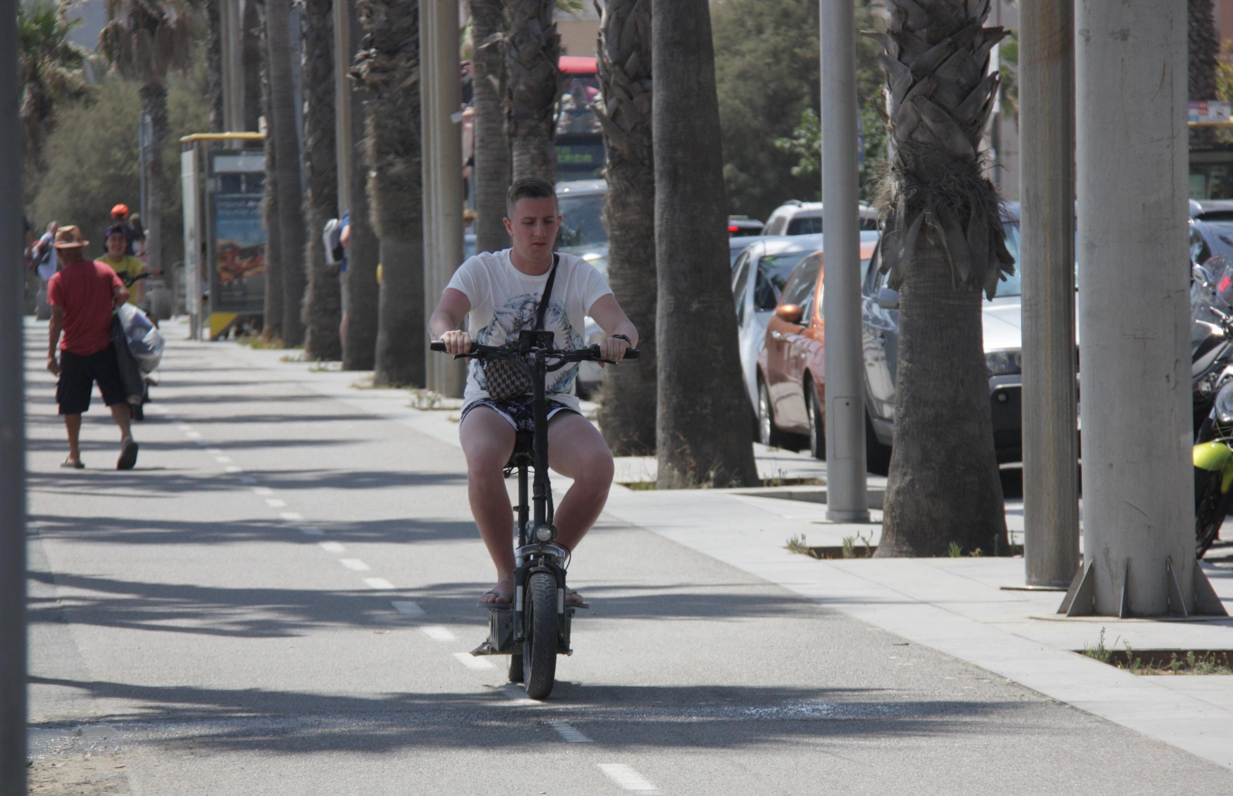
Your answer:
[[[67,106],[47,138],[47,171],[38,177],[27,217],[36,229],[49,221],[78,224],[90,240],[89,255],[102,255],[102,232],[111,207],[125,202],[136,212],[141,197],[137,160],[137,121],[142,102],[136,83],[109,78],[99,86],[97,101]],[[170,136],[163,150],[164,265],[182,260],[180,198],[181,136],[208,124],[208,100],[186,79],[170,80],[168,112]]]

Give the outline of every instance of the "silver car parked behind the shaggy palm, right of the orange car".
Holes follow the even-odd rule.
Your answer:
[[[1006,248],[1018,261],[1018,205],[1002,208]],[[870,469],[884,469],[890,461],[895,434],[895,360],[899,352],[899,297],[878,272],[878,258],[861,287],[862,338],[866,373],[866,433],[869,436]],[[1021,351],[1023,312],[1020,274],[999,283],[997,294],[984,302],[984,347],[989,366],[989,400],[993,408],[994,447],[1001,463],[1022,461],[1023,435]],[[877,471],[875,471],[877,472]]]

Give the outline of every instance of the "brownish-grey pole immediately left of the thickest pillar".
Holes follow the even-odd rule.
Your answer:
[[[1020,9],[1023,525],[1027,585],[1079,568],[1074,281],[1074,0]]]

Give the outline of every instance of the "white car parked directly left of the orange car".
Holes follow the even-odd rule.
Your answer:
[[[862,232],[861,242],[875,243],[877,232]],[[732,299],[736,304],[741,378],[750,399],[750,424],[757,434],[757,362],[766,343],[767,322],[779,304],[779,294],[793,269],[806,256],[822,250],[821,235],[778,235],[757,238],[732,265]]]

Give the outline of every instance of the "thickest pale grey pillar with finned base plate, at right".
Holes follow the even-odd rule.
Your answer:
[[[1095,612],[1194,607],[1186,4],[1075,16],[1084,562]],[[1054,430],[1057,431],[1057,430]]]

